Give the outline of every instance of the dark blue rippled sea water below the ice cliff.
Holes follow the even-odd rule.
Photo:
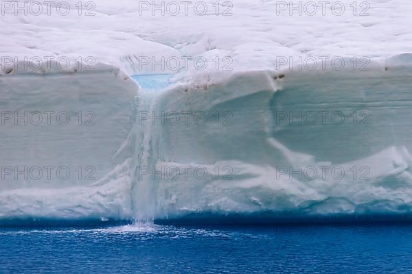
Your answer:
[[[412,225],[2,227],[0,273],[412,273]]]

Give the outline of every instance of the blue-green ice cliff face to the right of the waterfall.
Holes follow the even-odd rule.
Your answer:
[[[394,66],[280,79],[262,71],[226,86],[166,92],[166,111],[229,111],[231,125],[163,127],[157,169],[203,166],[209,176],[160,179],[159,215],[409,213],[410,76]],[[231,180],[216,179],[225,166]]]

